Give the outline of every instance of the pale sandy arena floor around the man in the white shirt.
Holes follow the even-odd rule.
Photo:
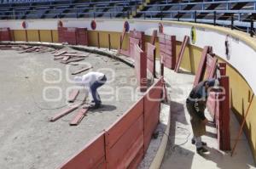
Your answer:
[[[17,51],[0,51],[0,59],[1,169],[50,169],[59,166],[83,149],[91,138],[113,124],[136,101],[131,98],[131,89],[136,87],[132,81],[135,77],[134,70],[119,61],[90,54],[84,61],[90,62],[93,70],[109,68],[115,73],[112,75],[111,71],[102,70],[108,80],[113,78],[113,81],[103,86],[100,93],[111,92],[109,88],[113,88],[116,97],[104,101],[110,95],[102,96],[102,109],[90,111],[78,127],[70,127],[68,124],[77,111],[58,121],[49,122],[51,116],[67,109],[67,106],[55,108],[66,104],[67,88],[73,86],[73,83],[67,82],[66,75],[70,76],[81,65],[71,65],[70,70],[67,70],[66,65],[54,61],[53,54],[50,53],[19,54]],[[43,77],[47,68],[50,68],[45,73],[47,81],[57,81],[60,77],[58,70],[61,70],[61,81],[45,82]],[[116,92],[117,87],[126,86],[131,89],[123,89],[119,92],[121,95]],[[45,87],[49,87],[45,94],[48,99],[57,99],[60,89],[61,101],[45,101]],[[84,92],[81,92],[79,99],[83,99],[83,96]]]

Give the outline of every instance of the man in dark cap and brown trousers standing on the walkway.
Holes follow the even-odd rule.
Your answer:
[[[208,150],[204,147],[207,143],[201,141],[201,136],[206,134],[208,120],[204,111],[207,107],[208,92],[210,92],[212,88],[218,88],[218,80],[211,79],[200,82],[189,93],[189,98],[186,101],[194,134],[191,142],[195,144],[198,154],[208,153]]]

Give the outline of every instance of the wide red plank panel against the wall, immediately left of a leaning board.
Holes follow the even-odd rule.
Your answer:
[[[176,65],[176,37],[160,34],[160,56],[163,64],[174,70]]]

